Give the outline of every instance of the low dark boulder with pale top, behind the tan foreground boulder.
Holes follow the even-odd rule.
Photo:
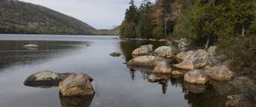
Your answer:
[[[55,73],[49,70],[42,70],[32,74],[31,76],[28,76],[24,82],[24,85],[32,87],[58,86],[59,82],[73,74],[74,73]],[[89,78],[90,82],[93,81],[90,76],[87,76],[87,78]]]

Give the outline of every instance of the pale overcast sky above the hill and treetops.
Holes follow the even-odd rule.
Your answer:
[[[111,29],[125,17],[130,0],[20,0],[73,16],[96,29]],[[137,6],[143,0],[135,0]],[[154,1],[154,0],[152,0]]]

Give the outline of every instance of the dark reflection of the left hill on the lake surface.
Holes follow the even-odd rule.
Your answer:
[[[24,48],[29,43],[38,44],[39,48]],[[33,64],[35,61],[44,61],[68,49],[79,48],[86,42],[64,41],[1,41],[0,42],[0,69],[11,65]]]

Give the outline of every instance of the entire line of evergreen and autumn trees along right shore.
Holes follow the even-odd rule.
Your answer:
[[[131,0],[120,37],[180,38],[236,60],[234,68],[256,69],[255,0]],[[238,69],[236,69],[238,70]],[[256,73],[256,72],[255,72]]]

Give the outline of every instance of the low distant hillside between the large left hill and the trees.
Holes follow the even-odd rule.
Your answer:
[[[96,35],[115,35],[115,36],[119,36],[119,26],[111,29],[111,30],[96,30],[94,32],[94,34]]]

